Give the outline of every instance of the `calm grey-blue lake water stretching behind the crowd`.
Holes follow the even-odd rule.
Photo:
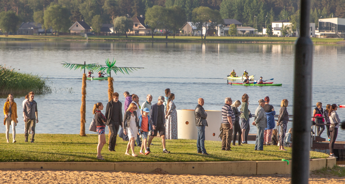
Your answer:
[[[152,94],[153,102],[164,90],[170,88],[175,94],[177,109],[194,109],[198,98],[205,99],[206,110],[220,110],[225,97],[240,100],[249,95],[249,110],[253,113],[258,100],[270,97],[270,104],[279,113],[280,101],[289,100],[288,112],[293,113],[294,44],[234,44],[234,43],[141,43],[141,42],[47,42],[47,41],[2,41],[0,42],[0,64],[20,69],[20,72],[48,77],[53,93],[36,95],[39,123],[37,133],[73,133],[80,130],[81,71],[63,68],[68,63],[100,63],[106,58],[115,58],[116,66],[144,67],[130,75],[114,76],[114,91],[139,96],[139,103]],[[345,45],[315,45],[313,63],[314,109],[316,102],[345,104]],[[232,69],[242,75],[264,79],[274,78],[277,86],[231,86],[224,79]],[[97,75],[97,74],[96,74]],[[94,74],[94,76],[96,76]],[[96,102],[106,105],[108,101],[107,81],[87,80],[86,127],[92,120],[92,107]],[[74,93],[69,93],[72,88]],[[0,104],[6,97],[0,97]],[[23,96],[15,96],[18,107]],[[341,120],[345,119],[345,108],[338,109]],[[103,110],[105,113],[105,109]],[[21,114],[19,112],[19,114]],[[312,115],[312,112],[311,112]],[[18,119],[17,133],[24,132],[23,120]],[[212,126],[212,125],[209,125]],[[288,128],[292,122],[288,123]],[[5,132],[5,126],[0,126]],[[11,132],[11,131],[10,131]],[[91,133],[86,130],[86,133]],[[256,133],[254,126],[250,133]],[[322,137],[327,137],[326,132]],[[339,129],[337,140],[345,140],[345,131]]]

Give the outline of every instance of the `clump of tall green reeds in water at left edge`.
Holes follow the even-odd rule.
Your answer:
[[[25,74],[0,65],[0,94],[50,93],[46,80],[38,75]]]

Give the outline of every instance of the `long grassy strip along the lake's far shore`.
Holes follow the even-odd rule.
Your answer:
[[[249,37],[249,36],[206,36],[206,40],[201,39],[201,36],[168,36],[168,39],[165,39],[165,36],[154,36],[152,39],[151,36],[88,36],[89,41],[157,41],[157,42],[244,42],[244,43],[293,43],[297,37]],[[343,39],[334,39],[334,38],[311,38],[314,43],[336,43],[342,41]],[[77,35],[9,35],[5,37],[0,35],[1,40],[47,40],[47,41],[71,41],[71,40],[87,40],[85,37]]]

